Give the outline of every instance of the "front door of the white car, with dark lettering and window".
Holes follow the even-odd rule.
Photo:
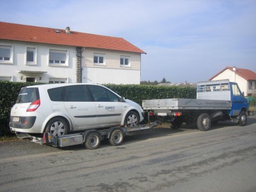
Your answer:
[[[110,90],[98,85],[88,85],[97,111],[97,124],[100,127],[120,125],[124,114],[124,102]]]

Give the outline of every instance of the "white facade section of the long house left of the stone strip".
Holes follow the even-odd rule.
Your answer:
[[[0,47],[11,47],[10,60],[0,61],[0,79],[15,82],[63,82],[76,81],[76,48],[33,44],[17,41],[0,41]],[[33,51],[34,60],[28,61],[28,52]],[[65,63],[50,63],[51,51],[64,52]]]

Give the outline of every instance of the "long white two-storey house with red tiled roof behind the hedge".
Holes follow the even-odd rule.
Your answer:
[[[0,80],[140,84],[144,51],[124,38],[0,22]]]

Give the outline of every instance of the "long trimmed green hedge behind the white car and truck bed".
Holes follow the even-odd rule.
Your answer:
[[[15,104],[20,88],[33,84],[42,83],[16,83],[8,81],[0,81],[0,135],[10,134],[9,120],[10,110]],[[44,84],[44,83],[43,83]],[[167,98],[196,98],[196,89],[192,87],[178,86],[155,86],[140,84],[104,84],[114,92],[118,93],[126,99],[133,100],[138,104],[143,99],[167,99]]]

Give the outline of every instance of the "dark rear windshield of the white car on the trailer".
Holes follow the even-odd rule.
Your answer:
[[[40,99],[38,88],[24,87],[20,90],[16,103],[34,102]]]

